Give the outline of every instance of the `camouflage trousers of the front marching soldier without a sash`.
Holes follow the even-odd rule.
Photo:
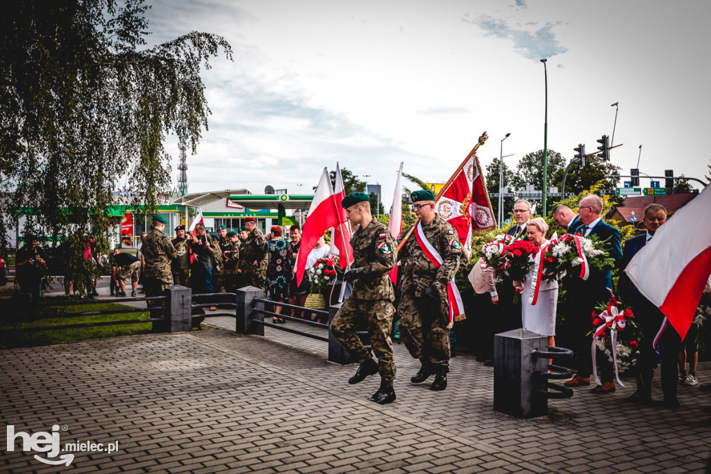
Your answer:
[[[370,347],[373,347],[375,357],[378,357],[380,378],[390,386],[395,380],[395,357],[392,355],[390,340],[394,314],[395,307],[390,301],[356,300],[348,297],[331,322],[333,337],[336,337],[360,364],[370,359],[370,353],[355,332],[363,327],[368,330]]]

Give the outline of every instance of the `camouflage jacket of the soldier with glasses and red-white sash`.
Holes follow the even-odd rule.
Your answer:
[[[403,231],[398,241],[402,241],[410,229],[416,225],[417,222]],[[459,269],[459,262],[464,255],[459,236],[454,227],[439,215],[427,226],[422,224],[422,231],[430,245],[442,256],[443,263],[439,268],[435,268],[429,258],[424,255],[422,247],[417,243],[415,236],[417,229],[415,229],[397,255],[397,258],[406,259],[402,264],[402,292],[422,296],[424,289],[432,285],[439,290],[439,293],[444,293],[447,290],[447,284]]]

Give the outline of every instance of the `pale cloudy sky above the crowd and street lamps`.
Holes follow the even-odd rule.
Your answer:
[[[629,174],[704,179],[711,163],[711,2],[148,0],[150,43],[224,36],[234,61],[203,77],[210,130],[190,191],[310,191],[323,167],[383,185],[400,162],[445,181],[481,132],[483,167],[543,147],[571,158],[612,135]],[[169,143],[176,179],[177,144]],[[648,184],[643,179],[642,185]],[[299,186],[301,185],[301,186]]]

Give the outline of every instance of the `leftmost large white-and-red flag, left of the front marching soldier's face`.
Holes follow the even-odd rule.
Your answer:
[[[299,255],[296,256],[296,285],[301,285],[301,280],[304,279],[306,259],[309,258],[309,253],[314,250],[316,242],[328,228],[336,227],[340,223],[339,209],[341,209],[341,201],[336,202],[336,195],[333,194],[331,187],[331,178],[328,177],[328,169],[324,168],[301,234]]]

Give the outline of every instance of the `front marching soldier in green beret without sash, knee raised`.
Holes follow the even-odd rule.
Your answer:
[[[395,239],[383,223],[370,214],[370,198],[365,193],[348,194],[341,202],[348,218],[359,226],[351,238],[355,267],[343,275],[352,281],[353,293],[343,302],[331,322],[331,333],[360,363],[358,371],[348,380],[357,384],[368,375],[380,372],[380,388],[370,397],[381,405],[395,401],[395,358],[392,355],[392,316],[395,315],[395,290],[388,271],[395,267]],[[365,325],[376,364],[355,332]]]

